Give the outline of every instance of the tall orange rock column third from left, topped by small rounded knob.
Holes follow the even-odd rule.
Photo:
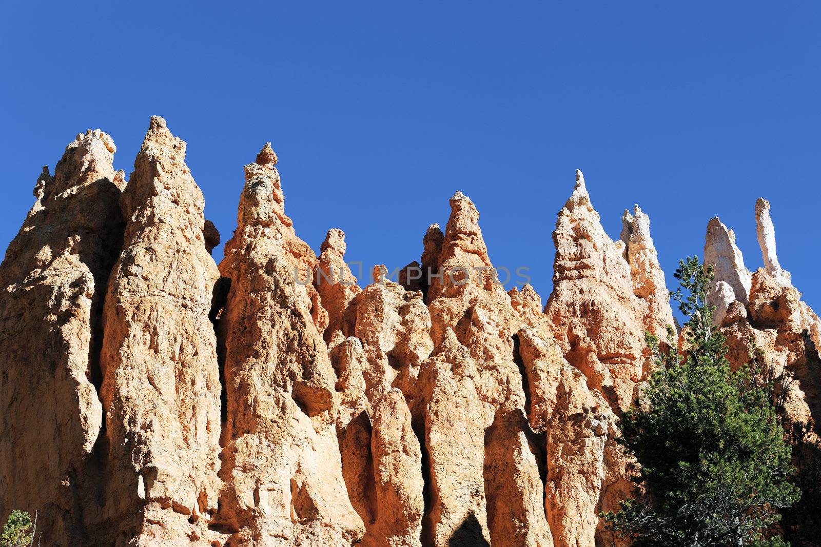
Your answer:
[[[245,166],[237,227],[219,268],[227,423],[218,525],[231,545],[351,545],[364,533],[342,478],[333,367],[316,324],[315,258],[282,209],[269,145]],[[327,321],[326,323],[327,324]]]

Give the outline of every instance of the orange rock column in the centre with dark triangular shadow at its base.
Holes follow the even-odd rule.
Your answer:
[[[498,283],[474,203],[456,192],[450,205],[443,238],[431,226],[422,258],[440,276],[427,292],[436,348],[415,404],[431,493],[423,543],[538,545],[549,537],[539,455],[516,419],[526,398],[514,335],[524,320]],[[504,481],[526,488],[498,490]]]

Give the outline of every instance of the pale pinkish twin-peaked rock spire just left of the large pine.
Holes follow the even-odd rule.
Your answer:
[[[626,220],[629,244],[614,243],[577,171],[576,188],[553,232],[553,294],[544,308],[567,361],[617,414],[630,407],[636,385],[649,373],[644,330],[658,333],[665,321],[672,323],[669,303],[660,297],[663,280],[654,273],[649,221],[638,209],[636,216]]]

